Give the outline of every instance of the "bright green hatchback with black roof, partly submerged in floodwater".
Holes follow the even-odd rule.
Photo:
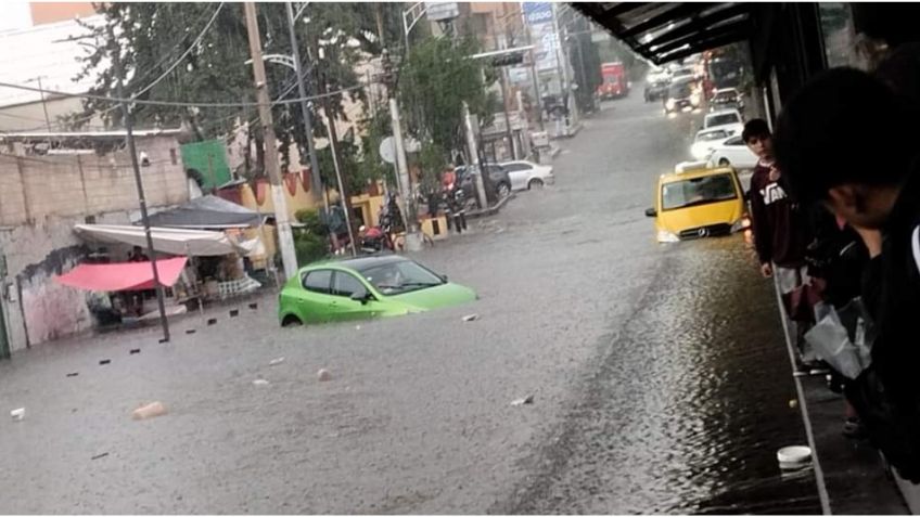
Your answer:
[[[290,279],[278,303],[282,326],[423,312],[473,301],[476,293],[397,255],[320,262]]]

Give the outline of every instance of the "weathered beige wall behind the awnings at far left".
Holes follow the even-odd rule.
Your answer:
[[[141,169],[148,206],[186,203],[188,182],[176,140],[139,139],[138,148],[151,160]],[[62,287],[52,279],[99,247],[77,238],[74,224],[87,222],[90,216],[100,224],[128,224],[139,219],[138,208],[133,172],[124,152],[79,157],[0,155],[0,254],[7,262],[0,295],[12,350],[91,326],[86,293]]]

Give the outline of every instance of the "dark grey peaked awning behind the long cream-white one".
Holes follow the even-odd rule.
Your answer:
[[[153,214],[149,219],[151,227],[228,229],[257,227],[260,216],[244,206],[206,195],[178,208]]]

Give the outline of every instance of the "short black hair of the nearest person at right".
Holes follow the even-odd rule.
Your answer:
[[[910,172],[918,120],[882,81],[832,68],[783,107],[774,137],[777,163],[804,203],[826,199],[845,183],[897,185]]]

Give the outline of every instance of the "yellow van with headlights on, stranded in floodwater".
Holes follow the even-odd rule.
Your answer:
[[[655,218],[660,243],[729,235],[750,227],[744,191],[733,169],[682,165],[659,178],[655,206],[646,210]]]

